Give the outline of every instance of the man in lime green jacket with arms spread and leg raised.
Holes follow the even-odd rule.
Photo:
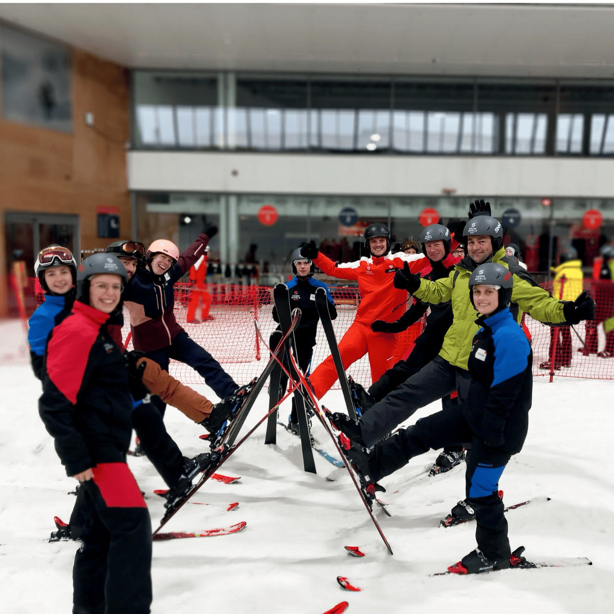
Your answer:
[[[436,304],[451,300],[454,321],[446,333],[439,355],[373,405],[359,422],[349,419],[345,414],[333,414],[335,426],[356,445],[370,448],[416,410],[455,390],[461,403],[467,398],[470,383],[467,360],[473,336],[480,328],[475,323],[478,313],[469,300],[469,278],[480,264],[486,262],[510,268],[505,262],[503,229],[501,223],[491,217],[489,204],[484,201],[472,203],[470,218],[463,230],[467,255],[454,266],[447,278],[432,282],[408,269],[397,270],[395,273],[395,286],[406,288],[425,303]],[[577,324],[594,317],[595,307],[588,293],[582,293],[575,301],[559,301],[546,290],[521,278],[515,271],[510,272],[513,273],[511,300],[534,319],[553,324]],[[520,316],[518,312],[517,317]]]

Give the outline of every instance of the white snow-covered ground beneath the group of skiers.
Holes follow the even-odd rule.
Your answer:
[[[76,483],[64,475],[38,417],[40,384],[20,352],[5,351],[4,341],[0,346],[14,357],[12,365],[0,367],[0,612],[65,614],[71,611],[76,543],[47,538],[54,515],[68,521],[74,497],[67,492]],[[205,386],[199,390],[213,397]],[[508,513],[513,548],[526,546],[534,560],[586,556],[592,566],[430,577],[475,547],[475,524],[438,526],[463,496],[464,466],[425,478],[433,452],[383,481],[387,492],[381,499],[390,503],[392,517],[378,511],[378,519],[391,556],[344,469],[316,454],[317,475],[303,472],[298,439],[279,427],[278,445],[265,446],[261,427],[221,470],[241,481],[210,481],[193,500],[211,505],[188,504],[168,524],[169,530],[200,530],[246,521],[246,529],[154,543],[152,612],[321,614],[343,600],[349,614],[612,612],[613,392],[611,381],[536,379],[529,437],[500,482],[507,505],[543,495],[552,499]],[[330,392],[324,403],[341,407],[341,393]],[[262,394],[246,426],[262,417],[266,404]],[[410,423],[438,407],[433,403]],[[289,411],[286,403],[282,416]],[[166,416],[185,455],[204,450],[200,427],[173,408]],[[328,443],[319,425],[314,433]],[[332,451],[332,444],[327,448]],[[152,491],[164,484],[147,459],[128,462],[157,526],[163,501]],[[239,507],[225,511],[235,501]],[[367,556],[349,556],[346,545],[360,546]],[[363,591],[346,593],[335,581],[338,575]]]

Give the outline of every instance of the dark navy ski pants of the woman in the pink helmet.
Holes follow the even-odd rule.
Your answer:
[[[179,333],[173,339],[173,343],[166,348],[146,352],[145,356],[157,362],[165,371],[168,371],[168,363],[171,358],[190,365],[195,371],[198,371],[207,386],[220,398],[233,394],[239,387],[233,378],[223,370],[222,365],[206,349],[201,348],[198,343],[190,339],[185,330]],[[166,403],[156,396],[152,396],[152,403],[164,416]]]

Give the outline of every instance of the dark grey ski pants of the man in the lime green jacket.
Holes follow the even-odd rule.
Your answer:
[[[368,447],[375,445],[421,407],[455,390],[459,402],[464,402],[470,383],[469,371],[454,367],[441,356],[436,356],[426,367],[363,414],[360,418],[362,440]]]

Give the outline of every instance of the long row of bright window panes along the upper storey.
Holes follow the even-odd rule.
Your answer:
[[[136,107],[138,144],[167,149],[544,155],[548,121],[545,113]],[[557,115],[554,149],[582,153],[584,133],[585,115]],[[590,116],[588,143],[590,155],[614,153],[612,115]]]

